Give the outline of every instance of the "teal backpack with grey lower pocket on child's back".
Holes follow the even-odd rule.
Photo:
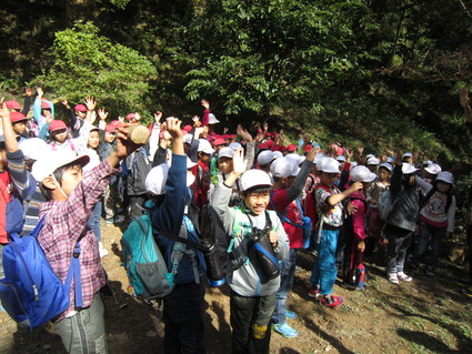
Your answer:
[[[134,219],[120,242],[127,275],[135,295],[144,300],[168,295],[174,286],[174,273],[169,272],[155,243],[149,215],[143,214]],[[177,270],[174,271],[177,273]]]

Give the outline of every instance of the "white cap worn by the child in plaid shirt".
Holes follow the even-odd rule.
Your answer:
[[[32,166],[31,174],[34,180],[40,183],[48,175],[51,175],[57,169],[77,162],[82,168],[88,164],[90,158],[88,155],[78,156],[74,152],[68,150],[50,151],[49,153],[38,159]]]

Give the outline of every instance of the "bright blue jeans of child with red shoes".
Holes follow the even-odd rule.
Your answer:
[[[318,259],[311,272],[310,282],[320,285],[320,294],[329,295],[333,292],[337,281],[337,247],[340,230],[322,230],[318,245]]]

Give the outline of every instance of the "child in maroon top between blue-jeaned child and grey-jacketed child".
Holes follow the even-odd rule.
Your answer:
[[[362,189],[350,195],[353,212],[348,216],[344,227],[345,246],[343,284],[353,286],[358,285],[359,280],[356,280],[356,283],[354,284],[353,276],[359,263],[362,261],[362,255],[365,250],[365,222],[369,214],[369,206],[365,201],[365,190],[376,178],[376,174],[372,173],[366,166],[356,165],[351,170],[350,176],[351,182],[349,186],[355,182],[362,183]],[[358,289],[363,290],[363,287],[359,286]]]

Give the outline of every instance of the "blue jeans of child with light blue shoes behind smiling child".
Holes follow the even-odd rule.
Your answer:
[[[289,256],[280,263],[280,287],[275,293],[275,310],[272,322],[283,324],[285,322],[285,302],[292,289],[295,277],[297,250],[290,250]]]

